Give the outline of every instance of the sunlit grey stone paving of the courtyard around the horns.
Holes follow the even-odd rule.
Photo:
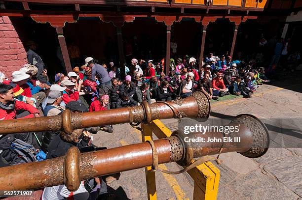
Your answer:
[[[211,105],[210,118],[255,114],[264,120],[268,119],[266,125],[273,140],[271,145],[275,147],[269,148],[263,157],[257,159],[246,158],[235,152],[222,154],[220,158],[223,163],[218,166],[221,171],[218,200],[302,199],[301,92],[301,80],[286,80],[276,82],[274,86],[261,86],[251,99],[237,98]],[[289,128],[278,133],[276,124],[269,122],[273,118],[296,120],[282,122],[283,126]],[[178,127],[174,119],[162,122],[171,130]],[[114,125],[112,134],[100,131],[94,135],[96,145],[108,148],[141,141],[140,132],[129,124]],[[297,146],[300,148],[295,148]],[[161,167],[172,171],[180,169],[173,163]],[[193,197],[193,180],[187,173],[168,175],[157,171],[156,187],[158,200],[192,200]],[[144,169],[122,172],[120,179],[110,184],[109,189],[120,200],[146,200]]]

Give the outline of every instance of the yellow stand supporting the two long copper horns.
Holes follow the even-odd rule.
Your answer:
[[[142,140],[152,140],[152,132],[158,139],[170,137],[172,132],[158,119],[149,124],[141,124]],[[148,200],[156,200],[155,172],[145,168]],[[188,171],[194,180],[193,200],[216,200],[220,171],[211,162],[205,162]]]

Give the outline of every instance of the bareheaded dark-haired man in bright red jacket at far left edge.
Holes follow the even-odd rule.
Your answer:
[[[17,114],[20,111],[29,112],[28,115]],[[18,117],[23,115],[23,117]],[[14,100],[13,87],[10,85],[0,85],[0,120],[8,120],[15,118],[32,118],[39,117],[38,110],[27,103],[22,101]]]

